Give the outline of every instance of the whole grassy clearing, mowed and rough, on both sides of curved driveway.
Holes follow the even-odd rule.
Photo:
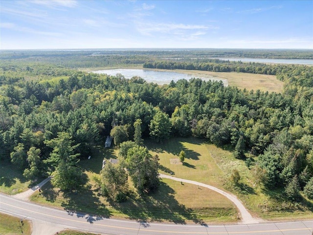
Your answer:
[[[161,173],[174,173],[176,177],[199,181],[218,188],[226,188],[236,194],[247,209],[264,219],[306,219],[313,217],[313,201],[290,203],[284,201],[280,191],[266,190],[255,185],[255,180],[244,160],[234,159],[231,151],[207,144],[196,138],[174,138],[162,144],[146,141],[151,154],[159,156]],[[184,164],[171,164],[184,150]],[[32,199],[41,204],[68,211],[88,211],[91,215],[175,223],[234,222],[237,211],[230,201],[206,188],[162,179],[156,193],[139,197],[133,192],[127,202],[113,203],[98,194],[92,176],[102,167],[103,158],[116,158],[117,149],[95,147],[90,160],[82,160],[81,166],[89,178],[86,188],[79,193],[63,194],[48,183],[42,193]],[[241,181],[234,188],[229,181],[233,169],[238,169]],[[130,185],[132,185],[130,183]],[[133,191],[135,191],[133,189]],[[82,196],[84,195],[84,196]]]

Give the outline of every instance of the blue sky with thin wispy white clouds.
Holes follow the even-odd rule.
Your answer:
[[[313,0],[1,0],[1,49],[308,48]]]

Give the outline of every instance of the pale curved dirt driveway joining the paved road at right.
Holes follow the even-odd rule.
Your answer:
[[[235,195],[230,194],[228,192],[225,192],[225,191],[223,191],[220,188],[215,188],[213,186],[206,185],[206,184],[203,184],[203,183],[200,183],[200,182],[196,182],[196,181],[192,181],[192,180],[180,179],[180,178],[173,177],[173,176],[170,176],[170,175],[160,174],[159,177],[160,178],[171,179],[171,180],[175,180],[175,181],[180,181],[180,182],[184,182],[184,183],[188,183],[188,184],[198,185],[200,187],[208,188],[208,189],[211,189],[213,191],[216,191],[216,192],[224,195],[225,197],[227,197],[230,201],[232,201],[236,205],[237,209],[240,211],[241,222],[243,224],[255,224],[255,223],[262,222],[261,219],[253,218],[252,215],[249,213],[249,211],[246,210],[246,208],[242,204],[242,202]]]

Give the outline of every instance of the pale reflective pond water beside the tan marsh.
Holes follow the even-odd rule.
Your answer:
[[[138,69],[115,69],[115,70],[98,70],[98,71],[92,71],[94,73],[99,74],[108,74],[108,75],[116,75],[117,73],[122,74],[125,78],[132,78],[134,76],[139,76],[143,79],[145,79],[147,82],[154,82],[159,85],[163,84],[169,84],[172,80],[177,82],[179,79],[186,79],[189,81],[189,79],[196,77],[201,78],[202,80],[215,80],[215,81],[223,81],[224,86],[228,86],[228,81],[226,79],[220,79],[218,77],[213,77],[210,75],[202,76],[201,75],[195,75],[195,74],[186,74],[186,73],[180,73],[180,72],[174,72],[174,71],[153,71],[153,70],[138,70]]]

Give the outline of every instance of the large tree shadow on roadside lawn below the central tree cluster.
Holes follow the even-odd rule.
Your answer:
[[[179,204],[175,199],[175,191],[164,182],[160,182],[156,192],[135,197],[124,203],[112,203],[112,206],[127,214],[130,219],[138,221],[170,221],[176,224],[186,224],[185,220],[204,225],[191,209]]]

